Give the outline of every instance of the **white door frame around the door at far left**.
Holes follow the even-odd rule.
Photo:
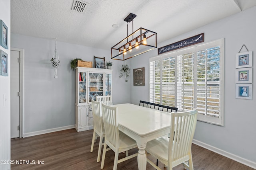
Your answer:
[[[23,138],[23,73],[24,73],[24,49],[13,48],[11,51],[20,52],[20,138]]]

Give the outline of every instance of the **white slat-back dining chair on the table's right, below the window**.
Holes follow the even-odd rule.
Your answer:
[[[164,136],[149,141],[146,145],[146,152],[166,165],[168,170],[172,170],[179,164],[193,170],[191,145],[196,129],[196,117],[197,109],[179,113],[172,112],[170,138]],[[148,158],[147,162],[157,170],[161,170]]]

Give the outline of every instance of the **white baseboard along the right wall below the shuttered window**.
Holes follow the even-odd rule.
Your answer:
[[[192,143],[194,143],[195,145],[198,145],[200,147],[203,147],[205,149],[211,150],[212,152],[218,153],[218,154],[220,154],[222,156],[225,156],[227,158],[230,158],[232,160],[235,160],[236,162],[239,162],[241,164],[244,164],[246,166],[249,166],[251,168],[256,169],[256,162],[252,162],[250,160],[244,159],[244,158],[242,158],[240,156],[237,156],[235,154],[226,152],[225,150],[218,149],[216,147],[213,147],[211,145],[208,145],[206,143],[200,142],[200,141],[195,140],[195,139],[193,139]]]

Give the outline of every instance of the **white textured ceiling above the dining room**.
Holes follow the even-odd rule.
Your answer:
[[[154,31],[160,43],[256,6],[256,0],[84,1],[86,11],[78,13],[71,10],[74,0],[11,0],[11,32],[110,50],[127,36],[130,13],[137,15],[134,31]],[[132,22],[128,27],[130,34]]]

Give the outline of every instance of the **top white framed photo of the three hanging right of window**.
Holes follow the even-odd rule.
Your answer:
[[[236,68],[252,67],[252,51],[236,54]]]

